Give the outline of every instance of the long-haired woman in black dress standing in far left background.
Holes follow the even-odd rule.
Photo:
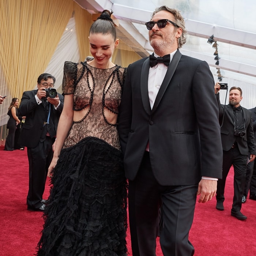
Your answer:
[[[16,131],[16,125],[20,123],[20,120],[18,118],[18,105],[19,105],[19,99],[18,98],[12,98],[12,102],[10,107],[8,108],[8,116],[10,116],[8,122],[7,122],[7,129],[8,136],[5,141],[4,150],[6,151],[13,151],[14,150],[14,137],[15,137],[15,131]]]

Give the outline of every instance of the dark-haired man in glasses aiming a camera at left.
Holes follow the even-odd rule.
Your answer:
[[[52,145],[55,141],[60,114],[63,110],[64,97],[52,94],[54,76],[44,73],[37,79],[38,90],[25,91],[22,95],[19,111],[26,116],[21,129],[20,144],[27,147],[29,159],[29,192],[27,209],[44,211],[42,199],[48,167],[52,161]],[[51,90],[46,98],[45,89]]]

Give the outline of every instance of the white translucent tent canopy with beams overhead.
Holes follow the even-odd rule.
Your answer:
[[[207,61],[217,76],[220,68],[225,78],[256,84],[256,1],[254,0],[75,0],[91,13],[112,9],[119,21],[118,35],[140,56],[152,53],[148,42],[149,21],[156,7],[167,5],[181,11],[188,29],[182,54]],[[215,49],[207,44],[214,35],[218,44],[219,65]],[[217,79],[216,79],[217,80]]]

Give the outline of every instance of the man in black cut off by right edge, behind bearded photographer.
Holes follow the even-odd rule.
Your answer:
[[[252,124],[254,131],[254,138],[256,140],[256,107],[249,109],[252,112]],[[255,141],[256,143],[256,141]],[[246,167],[244,195],[242,197],[242,203],[246,202],[246,197],[250,190],[249,199],[256,200],[256,164],[255,161],[249,162]]]

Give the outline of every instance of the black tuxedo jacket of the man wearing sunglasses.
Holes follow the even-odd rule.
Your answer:
[[[149,58],[130,64],[118,131],[125,174],[133,180],[147,143],[161,185],[197,184],[222,177],[222,147],[214,79],[205,61],[174,54],[153,109],[148,97]]]

